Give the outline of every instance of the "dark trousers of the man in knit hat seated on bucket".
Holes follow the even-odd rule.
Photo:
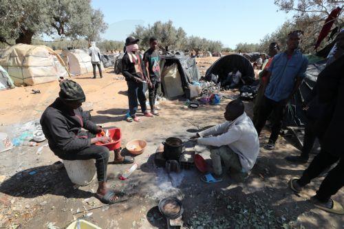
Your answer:
[[[92,144],[82,151],[58,155],[63,160],[96,160],[98,182],[105,182],[107,178],[107,162],[109,161],[109,149],[105,146]]]

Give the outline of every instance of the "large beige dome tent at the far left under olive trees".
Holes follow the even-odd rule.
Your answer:
[[[69,76],[61,57],[44,45],[13,45],[1,55],[0,65],[14,85],[36,85]]]

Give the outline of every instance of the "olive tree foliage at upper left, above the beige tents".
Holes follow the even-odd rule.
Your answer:
[[[40,34],[72,39],[98,39],[107,24],[89,0],[3,0],[0,4],[0,41],[31,43]]]

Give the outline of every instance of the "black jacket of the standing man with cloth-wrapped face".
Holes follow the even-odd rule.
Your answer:
[[[142,78],[142,79],[145,78],[145,67],[144,67],[144,63],[142,61],[142,58],[141,58],[140,54],[138,54],[136,56],[138,56],[138,58],[140,58],[140,60],[138,60],[138,61],[140,61],[140,63],[141,63],[142,74],[140,74],[140,72],[136,72],[135,63],[130,62],[129,56],[126,52],[122,58],[122,74],[123,74],[123,76],[125,76],[126,81],[136,82],[136,79],[134,77],[138,77],[138,78]]]

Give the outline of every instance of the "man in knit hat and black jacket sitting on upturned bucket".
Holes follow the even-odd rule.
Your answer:
[[[41,126],[50,149],[63,160],[96,160],[98,190],[96,197],[105,204],[111,204],[118,197],[114,190],[107,188],[107,162],[109,149],[95,143],[108,143],[109,137],[96,137],[103,131],[101,127],[88,120],[81,108],[85,102],[85,94],[78,83],[63,80],[60,83],[59,97],[45,109],[41,117]],[[82,131],[81,128],[89,132]],[[119,152],[115,154],[115,162],[125,159]],[[129,163],[132,163],[131,158]]]

